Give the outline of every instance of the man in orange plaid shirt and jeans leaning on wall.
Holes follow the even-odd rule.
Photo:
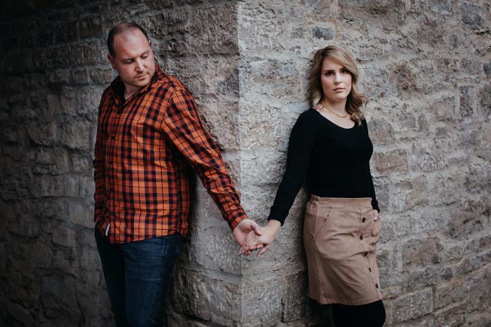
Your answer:
[[[116,326],[163,324],[170,278],[188,233],[192,170],[240,245],[250,231],[260,234],[190,92],[155,64],[151,45],[136,24],[109,32],[108,58],[119,76],[99,105],[95,238]]]

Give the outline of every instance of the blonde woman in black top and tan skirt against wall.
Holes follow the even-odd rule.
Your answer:
[[[381,222],[369,160],[373,152],[360,107],[368,99],[357,89],[358,69],[342,47],[314,56],[312,108],[292,129],[286,172],[262,236],[251,232],[242,252],[263,244],[266,252],[305,178],[311,179],[303,241],[309,297],[333,303],[336,327],[382,326],[385,310],[375,257]]]

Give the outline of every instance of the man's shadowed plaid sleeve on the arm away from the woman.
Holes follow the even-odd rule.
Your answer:
[[[107,92],[107,90],[106,90]],[[104,210],[104,202],[107,199],[104,185],[104,152],[102,144],[102,132],[101,132],[101,110],[107,105],[106,92],[104,92],[101,103],[99,104],[99,120],[97,124],[97,134],[95,139],[95,153],[94,153],[94,182],[95,182],[95,193],[94,193],[94,221],[96,218],[102,214]]]

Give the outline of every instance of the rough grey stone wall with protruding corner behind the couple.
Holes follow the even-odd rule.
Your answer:
[[[352,51],[374,143],[386,326],[491,322],[491,5],[462,0],[0,3],[0,324],[109,326],[93,240],[97,105],[109,29],[135,21],[188,85],[262,226],[313,52]],[[169,326],[329,325],[306,294],[306,189],[272,249],[237,255],[197,182]],[[326,322],[327,321],[327,322]]]

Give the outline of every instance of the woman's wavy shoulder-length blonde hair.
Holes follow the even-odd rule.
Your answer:
[[[312,106],[317,105],[322,101],[323,91],[321,84],[322,63],[325,58],[331,58],[338,64],[344,66],[350,72],[352,78],[351,92],[346,101],[346,112],[351,115],[351,118],[361,125],[364,118],[361,106],[368,102],[366,94],[358,89],[358,68],[351,54],[341,46],[332,45],[324,49],[319,49],[314,55],[314,66],[310,73],[310,87],[312,89]]]

